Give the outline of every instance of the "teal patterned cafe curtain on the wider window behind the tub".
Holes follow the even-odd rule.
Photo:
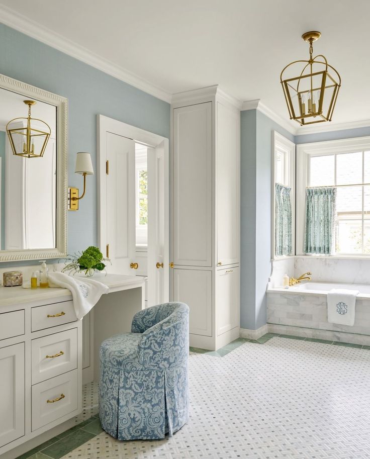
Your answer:
[[[335,187],[306,189],[305,253],[332,252],[335,198]]]

